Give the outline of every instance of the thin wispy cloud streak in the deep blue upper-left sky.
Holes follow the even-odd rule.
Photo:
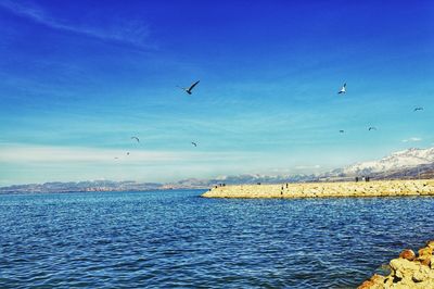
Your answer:
[[[105,24],[104,27],[92,27],[88,25],[75,25],[56,18],[42,7],[31,2],[24,4],[23,2],[3,0],[0,2],[0,8],[53,29],[80,34],[101,40],[125,42],[142,48],[153,47],[148,43],[149,26],[138,20],[113,22],[110,25]]]

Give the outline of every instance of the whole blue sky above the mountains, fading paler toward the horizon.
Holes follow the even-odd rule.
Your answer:
[[[0,185],[316,173],[433,147],[433,18],[423,0],[2,0]]]

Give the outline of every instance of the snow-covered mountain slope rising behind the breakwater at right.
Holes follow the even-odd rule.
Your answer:
[[[405,151],[392,153],[391,155],[385,156],[379,161],[356,163],[344,168],[335,169],[333,171],[333,173],[347,176],[370,175],[376,173],[400,171],[432,163],[434,163],[434,148],[411,148]]]

